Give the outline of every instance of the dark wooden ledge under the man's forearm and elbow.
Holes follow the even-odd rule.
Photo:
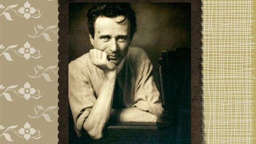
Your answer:
[[[71,140],[70,144],[190,144],[190,131],[177,134],[163,123],[122,123],[108,127],[108,137],[94,140],[88,135]]]

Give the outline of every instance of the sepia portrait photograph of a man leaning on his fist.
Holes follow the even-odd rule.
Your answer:
[[[191,3],[68,3],[68,139],[191,143]]]

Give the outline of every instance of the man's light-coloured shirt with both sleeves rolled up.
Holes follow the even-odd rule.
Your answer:
[[[68,66],[68,96],[76,132],[83,124],[96,102],[104,80],[104,73],[91,63],[86,53]],[[152,75],[153,65],[146,52],[130,47],[128,54],[119,64],[117,82],[121,89],[119,101],[124,108],[139,110],[160,116],[163,112],[160,93]]]

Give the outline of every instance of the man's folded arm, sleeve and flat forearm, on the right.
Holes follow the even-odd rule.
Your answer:
[[[152,75],[153,65],[146,52],[139,48],[130,49],[130,63],[134,68],[134,104],[132,108],[115,112],[120,122],[156,122],[163,112],[160,93]],[[116,111],[116,110],[115,110]]]

